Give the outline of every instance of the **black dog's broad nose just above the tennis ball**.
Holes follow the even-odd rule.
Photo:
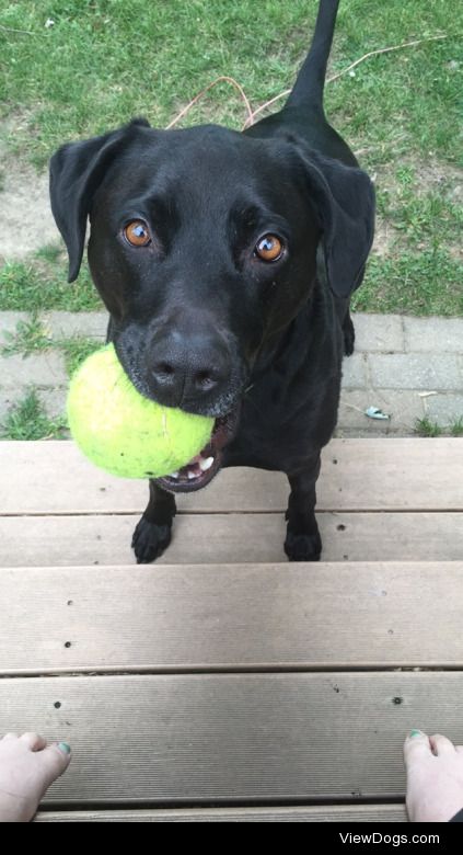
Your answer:
[[[230,376],[228,349],[213,333],[174,330],[153,340],[151,354],[151,388],[165,407],[202,399]]]

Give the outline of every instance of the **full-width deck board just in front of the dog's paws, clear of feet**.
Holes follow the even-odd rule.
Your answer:
[[[462,626],[463,561],[0,573],[0,675],[463,669]]]

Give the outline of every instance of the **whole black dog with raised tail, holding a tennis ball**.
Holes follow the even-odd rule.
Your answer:
[[[150,481],[139,562],[169,545],[174,493],[221,466],[286,472],[286,552],[320,558],[320,453],[336,424],[343,352],[354,349],[349,296],[374,218],[370,180],[323,112],[337,7],[321,0],[285,107],[245,133],[138,119],[51,159],[69,281],[90,216],[90,269],[128,376],[148,398],[216,418],[200,455]]]

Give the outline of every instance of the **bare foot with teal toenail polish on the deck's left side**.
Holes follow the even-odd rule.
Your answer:
[[[0,822],[28,822],[42,796],[68,768],[70,748],[48,745],[37,733],[0,739]]]

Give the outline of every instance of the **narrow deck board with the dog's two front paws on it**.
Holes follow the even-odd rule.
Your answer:
[[[140,514],[0,516],[0,567],[135,565]],[[319,513],[325,561],[453,561],[463,556],[463,513]],[[155,562],[243,563],[288,559],[283,514],[180,514]]]

